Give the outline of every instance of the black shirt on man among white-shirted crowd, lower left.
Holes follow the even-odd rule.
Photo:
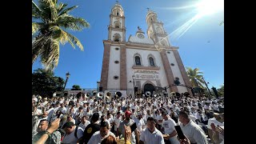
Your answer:
[[[89,124],[83,132],[82,142],[88,143],[91,136],[100,129],[98,123]]]

